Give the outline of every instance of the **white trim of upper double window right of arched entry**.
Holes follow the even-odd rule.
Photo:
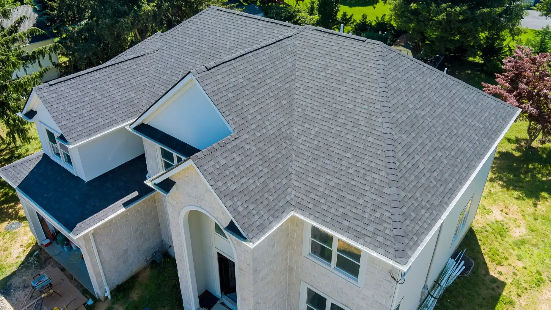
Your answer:
[[[316,225],[314,225],[314,226],[316,226]],[[316,227],[318,227],[318,226],[316,226]],[[321,229],[320,227],[318,227],[318,228]],[[323,230],[323,229],[321,229],[321,230]],[[352,275],[349,275],[345,271],[341,271],[341,270],[339,270],[338,268],[335,267],[335,265],[337,263],[337,244],[338,244],[338,241],[339,241],[339,237],[328,232],[329,234],[333,235],[333,247],[332,248],[334,249],[334,251],[332,253],[333,256],[331,258],[331,265],[329,265],[327,262],[321,260],[320,258],[317,258],[314,254],[310,253],[310,235],[311,235],[311,232],[312,232],[312,224],[305,221],[304,222],[304,236],[303,236],[303,239],[302,239],[302,256],[304,256],[305,258],[311,260],[312,262],[315,262],[316,264],[320,265],[321,267],[323,267],[327,270],[330,270],[332,273],[340,276],[341,278],[343,278],[344,280],[347,280],[348,282],[354,284],[355,286],[363,287],[364,286],[364,281],[365,281],[365,270],[367,269],[367,265],[368,265],[368,253],[365,252],[365,251],[362,251],[360,248],[358,248],[361,251],[360,270],[358,272],[358,279],[354,279]],[[343,240],[343,241],[346,242],[345,240]],[[348,243],[348,244],[350,244],[350,243]],[[350,245],[354,246],[353,244],[350,244]]]

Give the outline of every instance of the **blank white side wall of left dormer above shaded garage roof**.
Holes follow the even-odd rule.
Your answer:
[[[80,155],[84,181],[89,181],[144,153],[142,138],[126,128],[113,130],[75,148]]]

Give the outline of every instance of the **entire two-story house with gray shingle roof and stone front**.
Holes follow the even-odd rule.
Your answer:
[[[210,7],[36,86],[44,153],[0,176],[98,297],[168,251],[186,309],[413,310],[519,112],[381,42]]]

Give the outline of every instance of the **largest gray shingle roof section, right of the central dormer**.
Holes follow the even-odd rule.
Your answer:
[[[252,242],[295,210],[399,263],[517,112],[311,26],[191,73],[235,132],[192,159]]]

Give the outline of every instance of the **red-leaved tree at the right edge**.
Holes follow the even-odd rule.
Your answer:
[[[496,73],[498,85],[482,83],[484,92],[498,95],[507,104],[522,109],[528,120],[528,146],[551,142],[551,53],[533,55],[532,49],[517,46],[513,56],[503,60],[503,73]]]

